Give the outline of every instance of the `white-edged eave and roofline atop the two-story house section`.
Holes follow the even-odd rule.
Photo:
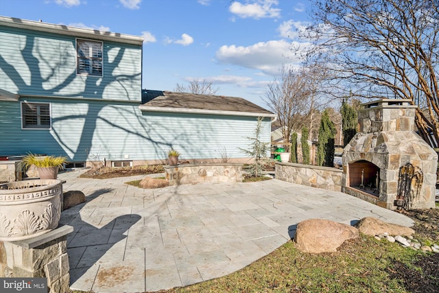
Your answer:
[[[36,30],[40,32],[50,32],[54,34],[65,34],[69,36],[79,36],[82,38],[94,38],[97,40],[112,40],[120,43],[143,45],[142,36],[132,36],[129,34],[119,34],[114,32],[101,32],[82,27],[69,27],[67,25],[55,25],[53,23],[43,23],[40,21],[27,21],[14,17],[0,16],[0,25],[8,27],[18,27],[26,30]]]

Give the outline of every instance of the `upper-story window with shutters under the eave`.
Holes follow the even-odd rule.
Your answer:
[[[102,42],[76,39],[76,73],[102,76]]]

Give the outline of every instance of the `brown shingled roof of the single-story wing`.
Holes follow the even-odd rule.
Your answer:
[[[156,112],[275,117],[269,110],[241,97],[171,91],[143,90],[142,104],[139,108]]]

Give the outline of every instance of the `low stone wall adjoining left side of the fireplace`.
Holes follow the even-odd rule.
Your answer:
[[[342,170],[337,168],[276,162],[276,179],[333,191],[342,190]]]

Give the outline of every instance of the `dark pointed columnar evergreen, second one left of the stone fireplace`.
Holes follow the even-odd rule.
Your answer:
[[[317,165],[334,166],[336,132],[333,121],[329,119],[328,110],[324,110],[318,129]]]

